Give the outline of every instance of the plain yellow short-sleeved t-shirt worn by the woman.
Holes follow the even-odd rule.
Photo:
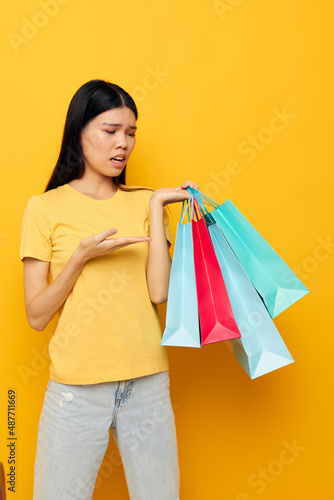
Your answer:
[[[52,282],[87,236],[115,227],[114,237],[149,235],[152,191],[121,191],[95,200],[68,184],[30,198],[20,258],[50,262]],[[171,242],[168,216],[165,233]],[[168,369],[156,304],[146,282],[148,243],[87,261],[58,312],[49,343],[50,377],[64,384],[127,380]]]

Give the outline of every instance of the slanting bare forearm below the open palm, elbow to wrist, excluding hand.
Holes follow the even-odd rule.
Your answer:
[[[44,330],[59,311],[70,294],[85,262],[81,252],[78,249],[75,250],[54,281],[27,305],[28,320],[35,330]]]

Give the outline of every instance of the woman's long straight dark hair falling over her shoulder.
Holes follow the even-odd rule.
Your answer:
[[[45,188],[46,191],[62,186],[73,179],[80,179],[85,170],[81,147],[81,131],[95,116],[113,108],[130,108],[136,120],[138,110],[130,94],[118,85],[104,80],[90,80],[72,97],[68,107],[59,157]],[[116,187],[127,191],[125,170],[114,177]]]

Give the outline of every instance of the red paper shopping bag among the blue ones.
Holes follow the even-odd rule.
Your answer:
[[[204,217],[194,200],[192,234],[201,344],[241,337]]]

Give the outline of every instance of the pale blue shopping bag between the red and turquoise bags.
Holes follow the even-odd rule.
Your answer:
[[[216,223],[209,234],[222,271],[241,338],[231,340],[233,353],[251,379],[293,363],[260,296]]]

